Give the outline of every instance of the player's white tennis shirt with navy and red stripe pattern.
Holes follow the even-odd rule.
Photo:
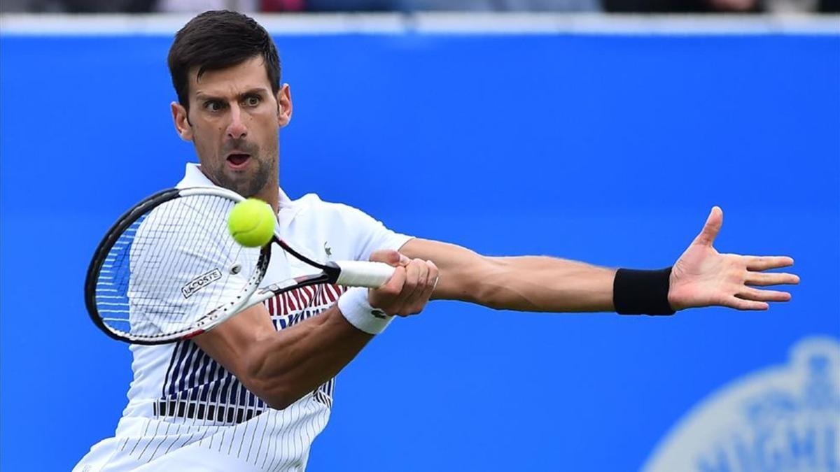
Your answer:
[[[178,187],[188,186],[213,183],[198,165],[187,164]],[[292,201],[281,190],[277,218],[283,239],[313,260],[368,260],[376,249],[399,249],[411,239],[314,194]],[[275,247],[264,282],[312,271]],[[142,290],[142,283],[135,289]],[[333,306],[343,290],[327,284],[303,287],[265,306],[279,330]],[[134,380],[117,431],[95,444],[74,471],[306,469],[312,440],[327,425],[334,379],[275,410],[192,341],[130,349]]]

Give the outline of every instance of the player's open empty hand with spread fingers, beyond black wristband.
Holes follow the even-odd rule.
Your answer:
[[[671,270],[668,302],[671,308],[731,307],[766,310],[768,302],[787,302],[786,291],[756,286],[798,284],[799,276],[764,272],[793,265],[786,256],[720,254],[712,247],[723,224],[723,211],[713,207],[706,225]]]

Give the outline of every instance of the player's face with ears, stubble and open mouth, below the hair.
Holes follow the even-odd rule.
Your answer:
[[[291,97],[287,85],[272,94],[261,57],[201,78],[191,71],[189,103],[188,115],[172,103],[172,115],[213,183],[244,197],[276,186],[278,134],[291,118]]]

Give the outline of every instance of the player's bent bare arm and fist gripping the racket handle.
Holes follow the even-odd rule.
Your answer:
[[[370,290],[370,305],[389,315],[420,312],[433,291],[437,268],[396,251],[380,251],[371,260],[398,266],[390,281]],[[259,304],[193,340],[249,391],[282,409],[337,375],[371,338],[350,324],[337,305],[278,331]]]

